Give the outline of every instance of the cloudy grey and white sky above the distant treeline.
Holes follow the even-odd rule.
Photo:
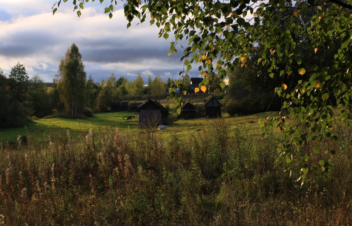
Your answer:
[[[177,78],[183,70],[180,62],[183,50],[168,56],[168,40],[158,38],[159,28],[150,26],[149,20],[126,29],[122,2],[110,20],[104,8],[105,0],[89,2],[82,15],[73,12],[72,0],[62,3],[55,15],[51,7],[55,0],[1,0],[0,1],[0,68],[9,73],[20,62],[28,75],[38,73],[45,82],[57,74],[58,64],[68,47],[75,43],[83,59],[87,77],[96,82],[125,76],[129,80],[140,73],[145,81],[150,75]],[[194,68],[197,68],[194,66]],[[198,77],[196,70],[189,72]]]

